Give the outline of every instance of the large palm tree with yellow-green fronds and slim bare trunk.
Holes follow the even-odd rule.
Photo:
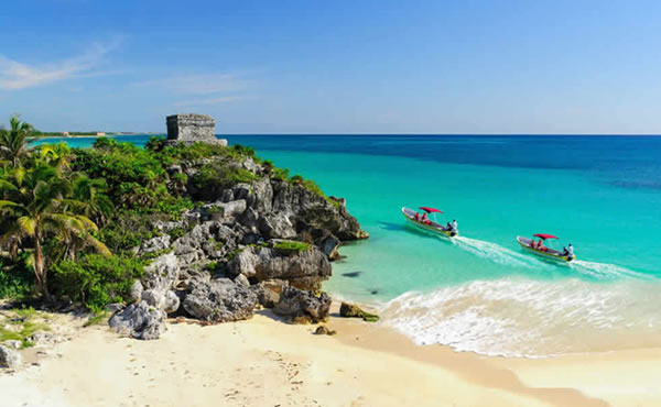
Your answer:
[[[18,167],[0,180],[0,244],[31,240],[35,285],[47,301],[52,301],[43,250],[47,237],[56,235],[66,242],[72,241],[71,237],[78,237],[109,254],[108,249],[90,234],[97,226],[71,210],[84,204],[71,198],[72,186],[57,168],[43,163],[29,169]]]

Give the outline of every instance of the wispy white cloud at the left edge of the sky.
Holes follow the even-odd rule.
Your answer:
[[[0,89],[17,90],[80,76],[96,76],[94,69],[120,40],[94,44],[87,52],[58,62],[28,65],[0,55]]]

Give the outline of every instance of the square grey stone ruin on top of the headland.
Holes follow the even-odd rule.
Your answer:
[[[167,123],[169,144],[193,144],[203,142],[209,144],[227,145],[227,140],[216,139],[214,130],[216,121],[207,114],[172,114],[165,120]]]

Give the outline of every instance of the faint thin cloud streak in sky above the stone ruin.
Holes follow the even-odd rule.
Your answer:
[[[250,86],[250,81],[245,79],[242,74],[219,73],[175,76],[133,85],[161,87],[177,95],[210,95],[243,90]]]

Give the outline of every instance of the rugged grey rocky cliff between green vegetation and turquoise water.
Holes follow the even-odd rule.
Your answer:
[[[167,315],[226,322],[260,306],[293,322],[327,317],[330,298],[319,289],[338,248],[368,238],[344,199],[273,177],[250,157],[183,161],[167,170],[187,179],[181,193],[196,206],[178,221],[154,222],[160,235],[136,248],[155,258],[112,328],[155,339]],[[228,174],[240,182],[229,183]]]

